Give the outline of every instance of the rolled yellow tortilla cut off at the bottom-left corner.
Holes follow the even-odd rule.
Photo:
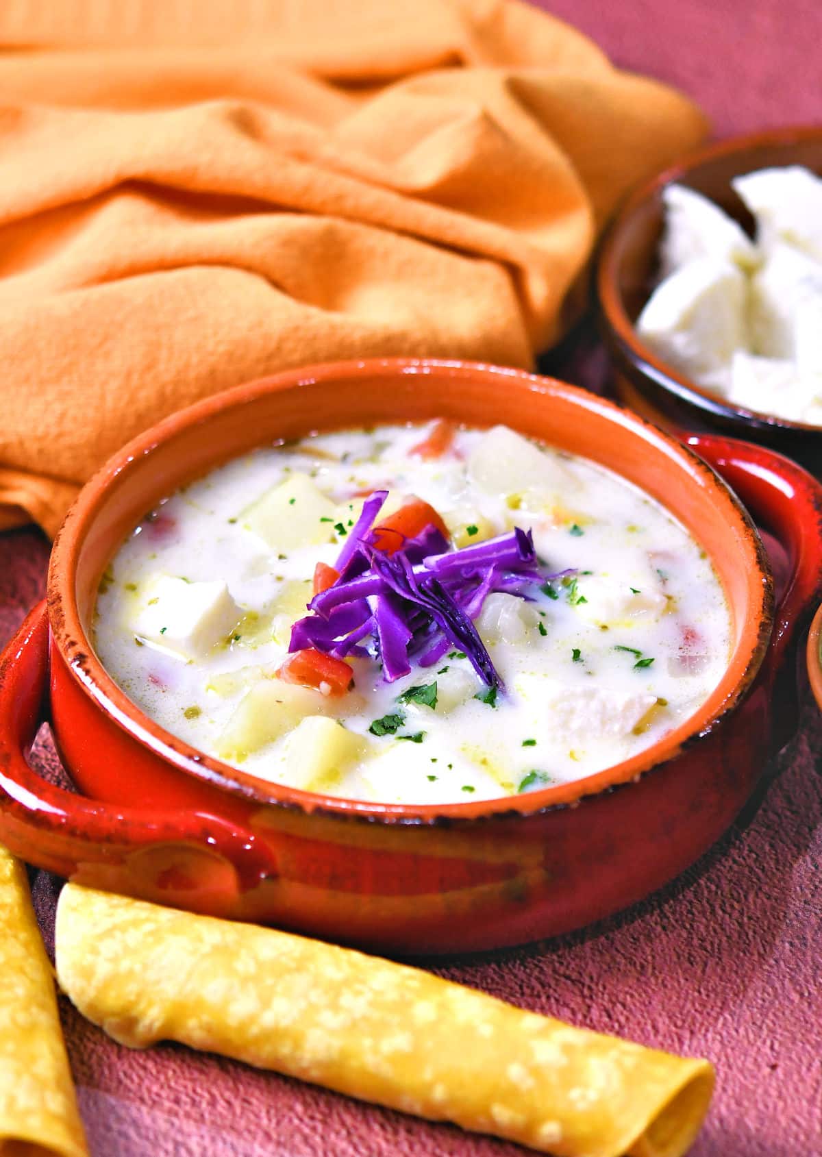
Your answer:
[[[87,1157],[23,865],[0,847],[0,1155]]]

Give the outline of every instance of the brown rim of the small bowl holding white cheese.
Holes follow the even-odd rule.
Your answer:
[[[668,165],[668,168],[656,174],[655,177],[651,177],[630,194],[608,228],[600,249],[595,274],[600,314],[610,329],[612,339],[616,340],[622,356],[631,362],[641,374],[685,401],[697,401],[698,399],[699,401],[707,403],[706,406],[700,406],[700,408],[709,410],[713,414],[724,418],[741,418],[747,422],[770,429],[793,430],[801,434],[820,434],[822,433],[822,425],[813,426],[808,422],[791,421],[787,418],[779,418],[776,414],[731,405],[720,395],[712,393],[705,386],[680,374],[673,366],[658,358],[654,351],[645,345],[639,337],[633,322],[623,305],[616,265],[617,250],[623,230],[634,213],[652,198],[661,193],[666,185],[687,177],[698,165],[720,157],[733,156],[735,153],[757,148],[795,145],[812,139],[822,140],[822,125],[797,125],[746,133],[741,137],[731,137],[727,140],[717,141],[713,145],[706,145],[703,148],[688,153],[681,161]]]

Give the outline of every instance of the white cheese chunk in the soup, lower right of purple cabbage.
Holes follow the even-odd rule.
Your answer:
[[[526,701],[541,706],[540,725],[553,743],[590,744],[629,735],[656,706],[656,695],[649,692],[593,680],[564,686],[540,675],[521,675],[514,686]]]

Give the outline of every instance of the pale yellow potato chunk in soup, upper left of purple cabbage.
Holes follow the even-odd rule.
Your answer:
[[[242,524],[272,550],[330,543],[338,522],[336,506],[308,474],[294,473],[266,491],[242,515]]]

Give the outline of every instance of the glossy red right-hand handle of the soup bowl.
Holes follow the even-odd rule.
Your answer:
[[[754,521],[773,535],[787,558],[787,581],[777,602],[764,664],[765,676],[777,680],[773,720],[781,746],[795,730],[799,714],[791,675],[797,649],[822,598],[822,485],[795,462],[765,447],[715,434],[681,437],[736,492]]]

